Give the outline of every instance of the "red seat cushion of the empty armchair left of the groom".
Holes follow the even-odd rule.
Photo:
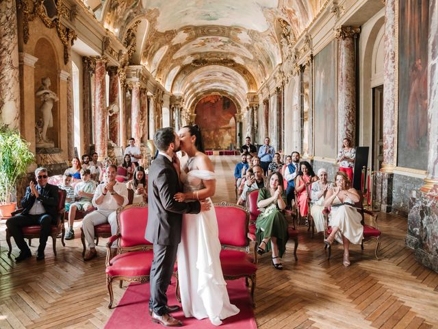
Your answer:
[[[105,273],[110,276],[149,276],[153,251],[127,252],[112,258]]]

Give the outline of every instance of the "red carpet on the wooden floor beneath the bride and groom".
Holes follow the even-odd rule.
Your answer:
[[[118,288],[118,281],[113,282],[114,289]],[[224,319],[220,327],[213,326],[209,319],[198,320],[194,317],[185,318],[183,311],[175,312],[172,315],[183,321],[183,328],[233,328],[233,329],[255,329],[253,308],[249,291],[245,286],[245,280],[227,281],[227,289],[232,304],[240,308],[240,313],[234,317]],[[159,324],[154,324],[148,314],[149,308],[149,283],[147,284],[130,284],[122,300],[118,303],[114,313],[105,325],[105,329],[120,328],[166,328]],[[175,297],[175,283],[172,283],[168,289],[168,304],[179,304]],[[180,305],[180,304],[179,304]]]

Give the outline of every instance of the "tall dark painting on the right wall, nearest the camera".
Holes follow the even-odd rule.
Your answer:
[[[401,0],[398,31],[398,167],[427,170],[429,0]]]

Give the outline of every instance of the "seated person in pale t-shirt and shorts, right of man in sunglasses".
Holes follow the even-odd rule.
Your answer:
[[[76,211],[87,211],[92,208],[91,199],[96,191],[96,182],[91,179],[90,169],[81,169],[82,182],[75,186],[75,203],[70,205],[68,211],[68,230],[64,239],[75,239],[75,231],[73,230],[73,223],[75,223]]]

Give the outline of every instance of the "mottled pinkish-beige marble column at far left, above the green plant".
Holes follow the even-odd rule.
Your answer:
[[[20,128],[20,78],[15,0],[0,1],[0,125]]]

